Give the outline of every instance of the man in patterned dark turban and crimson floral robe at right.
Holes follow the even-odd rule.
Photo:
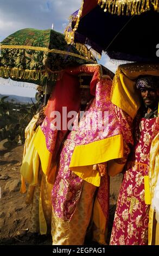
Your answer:
[[[136,67],[134,74],[135,72]],[[136,93],[141,96],[142,105],[134,120],[135,145],[123,171],[124,177],[119,191],[110,245],[148,245],[148,227],[152,225],[150,204],[154,188],[149,184],[152,183],[155,168],[157,176],[155,163],[154,167],[151,166],[152,158],[155,162],[155,153],[152,152],[153,150],[157,152],[156,148],[152,150],[152,142],[156,139],[155,147],[158,143],[156,136],[158,136],[159,77],[138,76],[136,88]],[[152,240],[152,237],[149,237],[149,240]]]

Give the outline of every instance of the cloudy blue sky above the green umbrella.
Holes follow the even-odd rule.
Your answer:
[[[63,32],[63,23],[80,8],[81,0],[1,0],[0,39],[22,28],[47,29]]]

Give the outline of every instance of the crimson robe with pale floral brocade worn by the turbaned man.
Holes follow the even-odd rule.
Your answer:
[[[136,145],[126,164],[120,187],[110,245],[147,245],[149,205],[145,204],[144,175],[156,118],[142,118],[136,129]]]

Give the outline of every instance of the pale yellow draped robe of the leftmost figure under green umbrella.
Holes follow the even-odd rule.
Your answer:
[[[21,193],[26,192],[25,181],[29,182],[26,204],[30,205],[30,231],[47,234],[51,225],[52,203],[50,194],[52,185],[48,184],[45,175],[41,172],[39,155],[34,148],[36,121],[39,113],[34,115],[25,130],[25,144],[21,166]]]

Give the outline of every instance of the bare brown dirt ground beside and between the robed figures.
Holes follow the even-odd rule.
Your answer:
[[[20,194],[23,145],[4,149],[0,147],[0,245],[51,245],[50,235],[33,234],[29,231],[30,213],[26,194]],[[122,174],[111,178],[110,239]]]

